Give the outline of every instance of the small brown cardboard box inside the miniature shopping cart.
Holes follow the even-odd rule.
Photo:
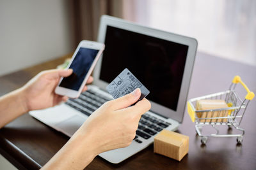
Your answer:
[[[221,109],[221,108],[228,108],[227,103],[224,100],[199,100],[196,101],[196,110],[214,110],[214,109]],[[210,112],[203,112],[200,118],[214,118],[214,117],[227,117],[227,111],[210,111]],[[227,122],[227,118],[214,118],[208,120],[200,120],[200,122]]]

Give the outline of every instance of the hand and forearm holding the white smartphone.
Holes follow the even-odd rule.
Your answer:
[[[72,74],[72,69],[42,71],[26,85],[0,97],[0,128],[30,110],[40,110],[67,101],[67,96],[55,94],[54,89],[61,76]],[[87,83],[91,83],[90,76]],[[83,91],[86,90],[85,86]]]

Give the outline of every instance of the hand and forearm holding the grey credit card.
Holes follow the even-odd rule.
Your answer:
[[[131,106],[140,95],[140,89],[136,89],[103,104],[43,169],[84,169],[99,153],[129,146],[141,115],[151,107],[147,99]]]

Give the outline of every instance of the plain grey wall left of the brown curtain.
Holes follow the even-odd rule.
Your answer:
[[[0,76],[72,52],[68,0],[0,1]]]

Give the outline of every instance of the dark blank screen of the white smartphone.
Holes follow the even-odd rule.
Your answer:
[[[98,52],[99,50],[95,49],[79,48],[76,57],[69,67],[70,69],[73,69],[73,73],[70,76],[63,78],[60,87],[79,90]]]

